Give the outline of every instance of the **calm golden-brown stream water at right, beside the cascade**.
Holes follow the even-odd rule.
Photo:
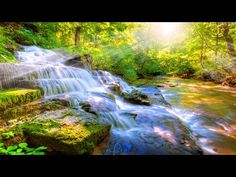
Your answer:
[[[211,82],[156,78],[172,112],[190,127],[206,154],[236,154],[236,89]]]

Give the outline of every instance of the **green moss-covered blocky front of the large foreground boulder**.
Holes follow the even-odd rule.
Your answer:
[[[107,125],[68,125],[56,120],[34,120],[21,126],[26,141],[33,146],[46,146],[51,153],[91,154],[108,136]]]

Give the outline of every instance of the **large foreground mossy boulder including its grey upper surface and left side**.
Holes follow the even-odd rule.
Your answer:
[[[94,114],[48,102],[36,108],[35,114],[22,116],[24,120],[13,119],[17,124],[0,129],[0,142],[8,146],[21,142],[32,147],[44,145],[49,154],[90,154],[109,135],[110,126],[100,125]]]

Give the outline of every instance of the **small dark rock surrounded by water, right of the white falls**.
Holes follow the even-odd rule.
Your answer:
[[[148,95],[138,90],[132,90],[132,92],[130,93],[123,92],[121,95],[128,102],[142,105],[150,105],[150,100]]]

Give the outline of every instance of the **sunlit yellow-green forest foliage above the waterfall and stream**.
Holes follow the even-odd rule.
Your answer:
[[[1,23],[0,62],[14,61],[20,45],[38,45],[90,55],[94,69],[111,71],[130,82],[162,74],[236,85],[236,24],[178,25],[181,30],[168,37],[160,34],[157,23]]]

